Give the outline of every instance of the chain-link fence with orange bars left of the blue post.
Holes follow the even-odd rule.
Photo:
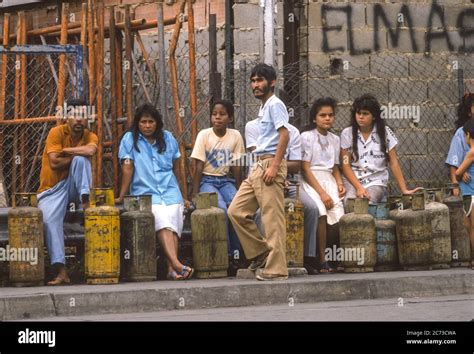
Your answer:
[[[45,49],[46,50],[46,49]],[[75,54],[65,58],[65,99],[75,96]],[[4,197],[39,187],[41,155],[57,112],[60,54],[5,54],[4,107],[0,120],[0,179]],[[4,62],[5,60],[5,62]],[[26,70],[21,70],[25,68]],[[0,72],[1,75],[1,72]],[[46,118],[45,117],[50,117]],[[35,118],[35,120],[31,120]],[[23,119],[28,119],[22,122]]]

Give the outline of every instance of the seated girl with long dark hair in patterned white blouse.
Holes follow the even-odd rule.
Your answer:
[[[398,140],[381,118],[381,107],[372,95],[354,100],[351,126],[341,133],[341,159],[346,200],[369,198],[372,203],[385,201],[389,180],[388,166],[403,194],[411,194],[398,163]]]

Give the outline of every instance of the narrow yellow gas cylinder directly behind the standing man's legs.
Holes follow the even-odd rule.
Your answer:
[[[286,259],[288,267],[303,267],[304,262],[304,210],[300,201],[300,185],[296,198],[285,198]]]

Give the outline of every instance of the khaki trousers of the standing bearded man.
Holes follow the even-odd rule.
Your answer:
[[[242,182],[228,210],[247,259],[253,259],[270,251],[264,274],[288,275],[286,264],[286,222],[283,188],[286,178],[286,161],[282,160],[278,175],[270,185],[263,175],[273,158],[257,162]],[[258,231],[254,221],[255,212],[261,210],[266,237]]]

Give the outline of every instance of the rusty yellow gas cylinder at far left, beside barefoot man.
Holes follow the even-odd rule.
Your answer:
[[[8,212],[10,282],[14,286],[44,285],[43,213],[34,193],[16,193]]]

